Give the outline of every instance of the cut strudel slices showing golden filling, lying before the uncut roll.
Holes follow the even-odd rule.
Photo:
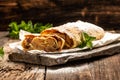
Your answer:
[[[24,50],[59,51],[64,47],[65,41],[57,35],[34,36],[26,35],[22,41]]]

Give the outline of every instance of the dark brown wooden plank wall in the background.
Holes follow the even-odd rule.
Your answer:
[[[7,30],[11,21],[60,25],[83,20],[108,29],[119,29],[119,0],[0,0],[0,30]]]

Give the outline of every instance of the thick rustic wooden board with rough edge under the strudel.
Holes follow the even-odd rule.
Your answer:
[[[65,64],[74,60],[89,59],[97,56],[113,55],[120,53],[120,42],[115,42],[103,47],[86,49],[86,50],[74,50],[71,52],[59,52],[59,53],[30,53],[21,50],[14,50],[9,55],[9,59],[15,62],[26,62],[32,64],[40,64],[45,66],[53,66]]]

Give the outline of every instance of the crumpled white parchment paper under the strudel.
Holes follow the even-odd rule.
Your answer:
[[[19,50],[23,50],[23,48],[21,46],[21,42],[24,39],[24,35],[27,35],[27,34],[32,34],[32,33],[26,32],[24,30],[20,30],[20,34],[19,34],[20,41],[14,42],[14,43],[10,43],[9,46],[12,49],[17,48]],[[33,34],[33,35],[40,35],[40,34]],[[95,48],[95,47],[101,47],[101,46],[113,43],[115,41],[119,41],[120,42],[120,33],[106,32],[105,36],[102,39],[93,41],[92,43],[93,43],[93,48]],[[69,52],[69,51],[73,51],[73,50],[75,51],[75,50],[84,50],[84,49],[87,49],[87,47],[85,47],[85,48],[67,49],[67,50],[62,50],[60,52]],[[34,53],[34,52],[42,52],[42,53],[44,52],[44,53],[46,53],[43,50],[30,50],[29,52],[31,52],[31,53]]]

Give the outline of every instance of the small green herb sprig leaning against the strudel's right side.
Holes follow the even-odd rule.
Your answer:
[[[88,48],[92,49],[92,47],[93,47],[92,41],[95,39],[96,39],[95,37],[89,36],[87,33],[83,32],[82,33],[82,42],[78,47],[79,48],[88,47]]]

